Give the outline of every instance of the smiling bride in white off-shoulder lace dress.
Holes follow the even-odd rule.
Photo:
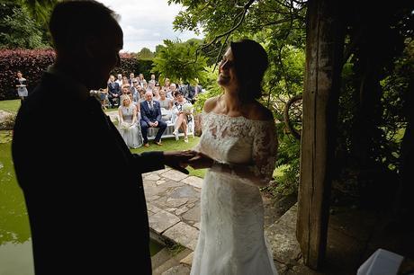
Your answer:
[[[198,154],[189,164],[210,169],[191,274],[277,274],[258,189],[272,179],[277,151],[272,112],[257,102],[267,66],[256,41],[231,42],[219,66],[224,93],[204,103]]]

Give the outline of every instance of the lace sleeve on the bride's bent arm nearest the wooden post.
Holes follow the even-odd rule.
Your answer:
[[[274,123],[263,123],[257,127],[252,150],[251,165],[214,162],[211,171],[237,176],[242,182],[250,185],[266,186],[272,180],[275,170],[277,139]]]

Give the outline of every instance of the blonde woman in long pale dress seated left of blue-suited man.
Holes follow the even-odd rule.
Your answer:
[[[138,111],[128,94],[121,95],[121,106],[118,108],[118,114],[120,116],[119,129],[123,141],[130,148],[138,148],[142,145],[138,124]]]

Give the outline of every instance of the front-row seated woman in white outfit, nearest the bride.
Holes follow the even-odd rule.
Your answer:
[[[187,126],[188,122],[193,120],[193,114],[192,111],[186,107],[190,107],[192,104],[184,98],[183,93],[176,91],[174,105],[173,113],[175,114],[175,129],[173,134],[175,135],[175,139],[178,140],[178,130],[182,129],[184,132],[184,142],[188,142]]]

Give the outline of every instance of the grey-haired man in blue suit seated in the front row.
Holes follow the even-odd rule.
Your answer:
[[[152,100],[152,92],[145,93],[145,102],[141,102],[141,132],[144,138],[144,146],[148,147],[148,128],[159,128],[157,136],[154,139],[155,144],[162,146],[160,141],[162,134],[166,130],[166,122],[161,120],[161,107],[159,102]]]

